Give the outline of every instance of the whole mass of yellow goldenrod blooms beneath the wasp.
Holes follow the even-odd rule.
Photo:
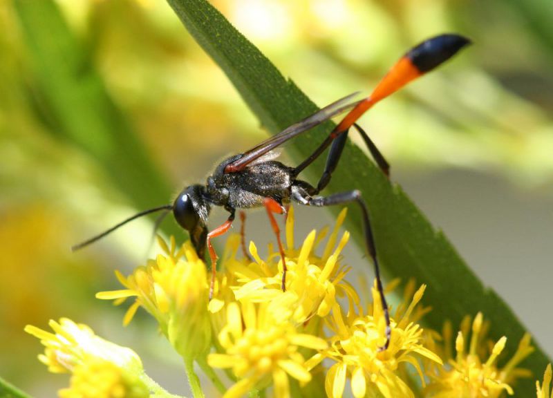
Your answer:
[[[424,330],[420,319],[429,308],[420,304],[425,285],[407,284],[403,301],[391,311],[391,340],[386,350],[386,321],[375,287],[370,305],[346,281],[350,268],[341,252],[349,234],[335,227],[311,231],[294,243],[294,211],[285,229],[283,263],[270,246],[260,256],[256,245],[240,252],[240,236],[230,236],[221,260],[214,297],[209,276],[190,243],[177,247],[160,239],[163,254],[129,276],[116,272],[123,290],[101,292],[100,299],[134,302],[124,324],[142,307],[185,361],[194,397],[204,397],[194,362],[225,398],[238,397],[500,397],[513,393],[518,364],[531,352],[525,336],[514,356],[498,368],[505,337],[485,339],[482,314],[467,319],[449,345],[451,325],[443,336]],[[320,253],[320,254],[317,254]],[[392,283],[391,285],[393,285]],[[388,286],[388,290],[392,287]],[[367,292],[369,293],[369,292]],[[39,356],[52,372],[71,372],[71,386],[60,397],[176,397],[144,373],[132,350],[97,337],[90,328],[68,319],[52,321],[54,334],[33,326],[26,331],[46,346]],[[469,329],[471,337],[469,339]],[[489,352],[486,348],[491,346]],[[221,372],[220,370],[225,370]],[[225,375],[226,380],[221,380]],[[550,398],[547,368],[538,398]]]

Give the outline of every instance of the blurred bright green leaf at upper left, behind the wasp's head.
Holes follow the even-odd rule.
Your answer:
[[[86,46],[52,0],[16,0],[28,68],[47,131],[99,162],[138,209],[167,203],[172,188],[111,99]],[[174,223],[165,223],[182,234]],[[179,232],[177,232],[179,231]]]

